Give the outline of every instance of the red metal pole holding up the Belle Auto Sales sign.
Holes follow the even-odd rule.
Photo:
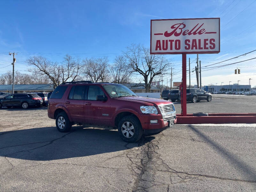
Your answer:
[[[182,53],[182,105],[181,116],[187,116],[187,54]]]

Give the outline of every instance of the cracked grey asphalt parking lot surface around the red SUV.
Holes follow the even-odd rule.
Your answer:
[[[188,113],[255,112],[256,97],[244,97]],[[125,143],[116,130],[60,133],[45,107],[2,108],[0,191],[255,191],[255,146],[255,124],[175,125]]]

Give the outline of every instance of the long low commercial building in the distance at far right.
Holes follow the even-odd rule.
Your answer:
[[[204,91],[214,92],[214,91],[251,91],[251,85],[240,85],[240,84],[231,84],[231,85],[205,85],[202,86]]]

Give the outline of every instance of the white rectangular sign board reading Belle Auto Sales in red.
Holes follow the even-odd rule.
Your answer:
[[[220,18],[151,20],[150,54],[220,52]]]

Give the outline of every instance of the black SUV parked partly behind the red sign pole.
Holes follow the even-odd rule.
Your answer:
[[[179,95],[180,99],[180,95]],[[205,92],[202,89],[187,89],[187,101],[192,101],[193,103],[199,102],[200,100],[212,101],[212,94]]]

